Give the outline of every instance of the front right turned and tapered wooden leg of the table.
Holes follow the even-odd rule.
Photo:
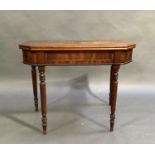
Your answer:
[[[112,65],[111,66],[111,90],[110,90],[111,114],[110,114],[110,131],[113,131],[113,129],[114,129],[119,68],[120,68],[120,65]]]

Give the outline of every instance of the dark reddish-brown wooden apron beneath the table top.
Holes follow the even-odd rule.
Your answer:
[[[24,64],[102,65],[132,61],[132,49],[126,51],[25,51]]]

